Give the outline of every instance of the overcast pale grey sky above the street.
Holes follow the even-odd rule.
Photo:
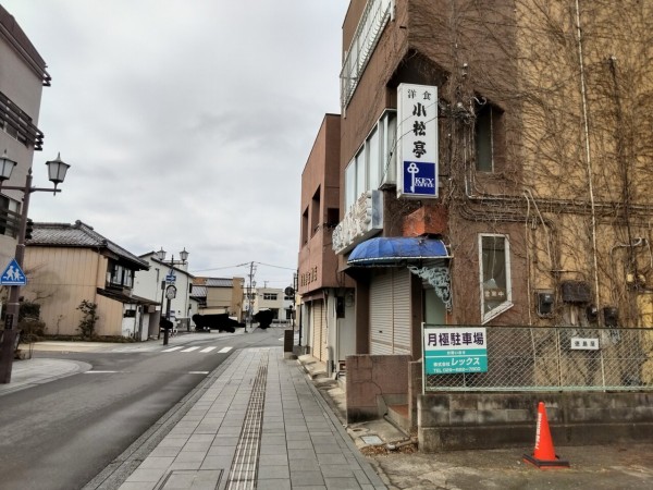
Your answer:
[[[300,176],[338,113],[348,0],[0,0],[48,64],[37,222],[82,220],[140,255],[189,252],[197,275],[291,284]],[[271,267],[275,266],[275,267]]]

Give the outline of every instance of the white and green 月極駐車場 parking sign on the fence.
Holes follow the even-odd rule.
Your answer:
[[[426,375],[488,371],[488,335],[482,327],[423,329]]]

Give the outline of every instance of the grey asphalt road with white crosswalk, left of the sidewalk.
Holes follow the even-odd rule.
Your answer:
[[[165,347],[148,342],[89,351],[50,344],[53,350],[35,352],[35,357],[87,363],[90,369],[0,397],[0,489],[82,488],[248,345],[278,346],[279,330],[180,335]]]

